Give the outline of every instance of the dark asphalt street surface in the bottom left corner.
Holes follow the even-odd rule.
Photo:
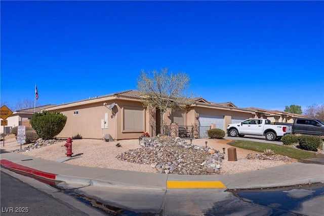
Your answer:
[[[1,215],[106,215],[31,177],[1,168]]]

